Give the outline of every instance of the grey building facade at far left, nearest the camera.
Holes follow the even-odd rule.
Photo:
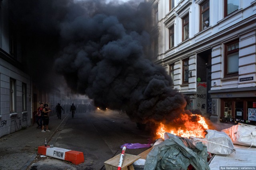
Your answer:
[[[24,71],[7,0],[0,1],[0,137],[31,125],[31,77]]]

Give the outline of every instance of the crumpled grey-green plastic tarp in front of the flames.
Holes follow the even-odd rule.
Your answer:
[[[206,146],[193,145],[189,139],[167,134],[170,139],[148,153],[144,170],[186,170],[190,164],[197,170],[210,170]]]

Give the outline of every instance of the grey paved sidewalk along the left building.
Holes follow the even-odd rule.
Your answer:
[[[0,138],[0,170],[26,170],[36,157],[38,146],[44,145],[45,139],[50,145],[52,136],[68,116],[71,115],[62,113],[62,119],[58,119],[56,115],[50,116],[50,132],[43,133],[41,129],[36,129],[37,124],[34,123]]]

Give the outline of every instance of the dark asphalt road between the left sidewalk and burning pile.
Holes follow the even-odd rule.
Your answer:
[[[95,113],[76,113],[74,118],[68,114],[48,144],[83,152],[85,162],[73,165],[38,155],[28,170],[104,170],[104,162],[122,152],[121,145],[148,143],[149,138],[149,132],[137,129],[136,123],[130,121],[125,113],[97,110]],[[138,155],[146,149],[126,149],[126,153]]]

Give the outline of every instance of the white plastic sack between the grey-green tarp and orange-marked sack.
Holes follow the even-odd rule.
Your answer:
[[[213,154],[231,154],[235,151],[234,145],[228,135],[224,132],[206,130],[205,138],[190,137],[195,143],[202,142],[208,152]]]

